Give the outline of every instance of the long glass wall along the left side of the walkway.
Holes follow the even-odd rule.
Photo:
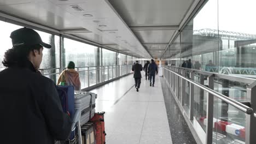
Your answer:
[[[4,53],[12,47],[9,35],[18,28],[21,28],[21,26],[0,21],[0,38],[2,40],[2,47],[0,49],[0,71],[5,68],[2,64]],[[117,64],[132,64],[131,56],[121,53],[117,55],[117,52],[64,37],[60,38],[59,35],[42,31],[37,32],[45,43],[52,46],[51,49],[44,49],[43,61],[39,70],[44,76],[49,77],[55,82],[59,78],[61,70],[65,69],[70,61],[75,63],[75,69],[79,73],[82,88],[113,79],[114,77],[127,74],[130,71],[127,66],[118,67]],[[129,62],[127,62],[127,57],[129,57]],[[101,66],[105,66],[104,70]]]

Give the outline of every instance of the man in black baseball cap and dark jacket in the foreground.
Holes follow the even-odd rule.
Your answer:
[[[10,35],[13,47],[0,72],[1,143],[54,143],[71,132],[71,119],[62,111],[55,83],[37,73],[43,47],[50,49],[30,28]]]

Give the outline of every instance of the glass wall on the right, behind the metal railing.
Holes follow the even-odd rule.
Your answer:
[[[256,1],[253,0],[208,0],[168,47],[163,59],[168,61],[168,65],[176,67],[255,78],[254,5]],[[184,71],[184,76],[190,77],[187,70]],[[194,73],[192,78],[202,85],[208,85],[206,75]],[[237,101],[250,101],[246,97],[247,86],[247,83],[235,80],[214,79],[215,91]],[[185,91],[184,110],[189,109],[190,104],[189,83],[185,83]],[[201,132],[206,128],[207,97],[207,92],[194,88],[192,104],[195,119],[192,123],[198,122],[201,125]],[[229,130],[223,130],[218,126],[222,123],[233,124],[240,131],[231,133]],[[245,113],[219,99],[214,99],[213,124],[214,143],[232,143],[235,139],[245,142]],[[219,136],[222,136],[222,139],[217,139]]]

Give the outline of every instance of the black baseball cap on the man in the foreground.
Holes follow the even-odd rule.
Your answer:
[[[41,45],[47,49],[51,48],[51,45],[46,44],[42,41],[40,35],[31,28],[20,28],[11,32],[10,34],[11,42],[13,46],[32,46]]]

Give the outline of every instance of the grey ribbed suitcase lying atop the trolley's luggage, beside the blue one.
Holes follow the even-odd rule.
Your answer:
[[[84,125],[89,122],[95,113],[95,99],[97,94],[75,91],[74,92],[74,109],[81,110],[80,123]]]

